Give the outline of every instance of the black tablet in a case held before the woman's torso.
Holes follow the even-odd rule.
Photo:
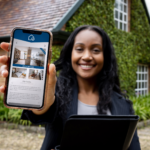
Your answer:
[[[138,116],[73,115],[64,128],[60,150],[127,150]]]

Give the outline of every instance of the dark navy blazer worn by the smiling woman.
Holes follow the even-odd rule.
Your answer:
[[[55,146],[60,145],[60,139],[63,131],[64,124],[73,114],[77,114],[77,102],[78,102],[78,89],[75,86],[73,88],[73,101],[70,103],[70,109],[66,114],[66,119],[62,119],[58,115],[58,99],[56,97],[54,104],[43,115],[37,116],[32,111],[24,110],[21,119],[28,119],[34,124],[45,124],[45,139],[41,150],[54,149]],[[131,104],[116,92],[111,96],[111,114],[112,115],[130,115]],[[140,150],[139,138],[137,131],[135,132],[131,145],[128,150]]]

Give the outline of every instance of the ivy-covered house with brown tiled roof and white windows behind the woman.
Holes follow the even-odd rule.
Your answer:
[[[100,26],[115,48],[122,91],[149,93],[150,18],[145,0],[1,0],[0,8],[0,41],[9,41],[15,26],[51,30],[53,61],[76,27]]]

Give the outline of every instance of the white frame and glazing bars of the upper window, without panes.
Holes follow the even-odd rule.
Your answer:
[[[125,3],[126,1],[126,3]],[[117,22],[117,26],[116,28],[121,29],[120,28],[120,24],[122,23],[122,29],[123,31],[128,32],[128,0],[115,0],[115,5],[118,4],[118,8],[116,8],[116,6],[114,7],[114,20],[115,20],[115,26],[116,26],[116,22]],[[121,7],[123,10],[121,10]],[[126,6],[126,12],[124,12],[124,7]],[[115,12],[118,13],[118,18],[116,18],[115,16]],[[122,20],[120,19],[120,14],[122,13]],[[126,21],[124,20],[126,16]],[[124,28],[124,25],[126,25],[126,29]]]

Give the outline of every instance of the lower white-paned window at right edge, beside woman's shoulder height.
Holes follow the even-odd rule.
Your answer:
[[[148,94],[148,66],[138,65],[136,74],[136,95],[139,96]]]

